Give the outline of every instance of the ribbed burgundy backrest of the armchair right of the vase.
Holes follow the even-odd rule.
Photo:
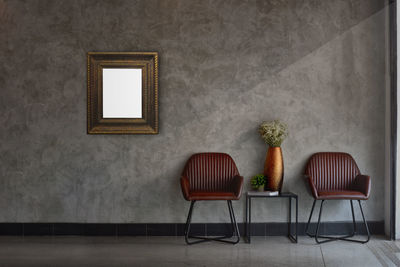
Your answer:
[[[348,190],[358,174],[353,157],[341,152],[315,153],[306,167],[317,190]]]

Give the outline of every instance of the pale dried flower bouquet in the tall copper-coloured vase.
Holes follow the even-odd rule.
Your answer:
[[[263,122],[258,128],[262,139],[270,147],[281,146],[283,140],[288,136],[287,125],[279,120],[274,120],[271,122]]]

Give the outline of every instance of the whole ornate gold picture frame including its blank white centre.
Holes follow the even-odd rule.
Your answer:
[[[158,134],[158,53],[87,54],[87,133]]]

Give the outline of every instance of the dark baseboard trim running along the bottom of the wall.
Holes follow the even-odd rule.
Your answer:
[[[383,235],[384,222],[368,222],[371,234]],[[342,235],[352,230],[352,222],[321,223],[320,234]],[[306,223],[299,223],[299,235],[305,235]],[[183,236],[184,223],[0,223],[0,235],[13,236]],[[311,229],[315,224],[311,224]],[[357,223],[359,234],[366,234],[363,224]],[[239,223],[244,235],[244,223]],[[293,227],[294,230],[294,227]],[[231,233],[227,223],[193,223],[191,233],[202,236],[215,236]],[[287,235],[287,223],[253,223],[253,236]]]

